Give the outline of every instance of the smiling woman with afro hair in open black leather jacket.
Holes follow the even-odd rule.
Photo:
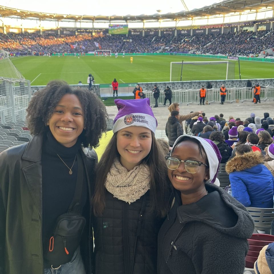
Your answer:
[[[33,137],[0,155],[0,273],[91,274],[93,148],[106,118],[96,95],[66,82],[34,94],[27,108]],[[57,235],[57,219],[76,213],[81,229],[67,225],[67,236]]]

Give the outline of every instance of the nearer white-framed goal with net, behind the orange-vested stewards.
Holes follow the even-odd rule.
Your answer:
[[[170,62],[170,81],[235,79],[235,61]]]

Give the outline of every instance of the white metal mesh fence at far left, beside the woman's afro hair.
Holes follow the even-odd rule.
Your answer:
[[[29,80],[0,79],[0,121],[24,121],[26,109],[31,100],[31,85]]]

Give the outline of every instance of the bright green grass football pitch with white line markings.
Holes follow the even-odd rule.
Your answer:
[[[11,58],[13,64],[31,85],[46,85],[50,80],[61,79],[68,84],[87,83],[92,73],[96,84],[108,84],[114,78],[119,83],[168,82],[170,80],[170,62],[184,61],[222,61],[223,59],[189,57],[178,55],[130,55],[125,57],[95,56],[29,56]],[[226,59],[227,60],[227,59]],[[233,61],[232,61],[233,62]],[[235,62],[235,61],[234,61]],[[273,78],[274,63],[240,61],[242,79]],[[183,71],[182,80],[218,80],[223,79],[216,73],[205,76],[206,70]],[[205,78],[206,77],[206,78]],[[208,77],[208,78],[207,78]],[[238,61],[235,63],[235,78],[239,79]]]

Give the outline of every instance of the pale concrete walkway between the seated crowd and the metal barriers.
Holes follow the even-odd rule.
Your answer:
[[[116,106],[106,106],[109,118],[114,119],[118,109]],[[254,104],[251,101],[244,101],[243,103],[239,102],[225,102],[223,105],[219,102],[213,102],[211,104],[205,104],[200,106],[200,104],[180,104],[180,114],[187,114],[191,111],[202,110],[206,113],[206,117],[212,117],[214,115],[219,115],[223,113],[224,118],[227,120],[229,116],[234,118],[241,118],[245,120],[250,117],[251,112],[254,112],[256,116],[263,118],[263,113],[268,112],[271,118],[274,117],[274,100],[269,99],[266,101],[261,100],[261,104]],[[158,121],[158,127],[156,131],[156,138],[166,138],[165,127],[166,121],[168,119],[169,111],[168,105],[166,107],[159,105],[158,108],[152,108],[152,111]]]

